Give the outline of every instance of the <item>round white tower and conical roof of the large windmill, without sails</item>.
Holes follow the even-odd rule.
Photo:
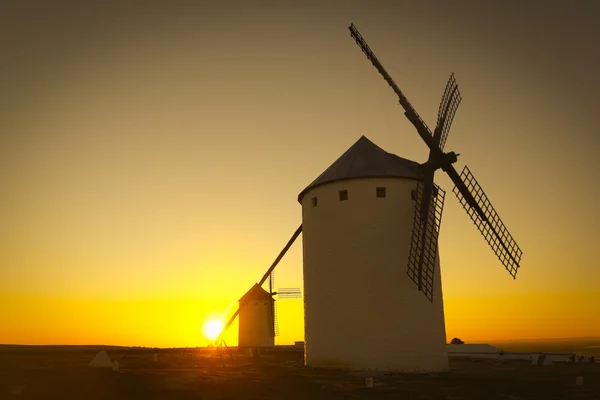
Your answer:
[[[433,303],[406,273],[421,179],[363,136],[298,196],[307,366],[448,370],[439,254]]]

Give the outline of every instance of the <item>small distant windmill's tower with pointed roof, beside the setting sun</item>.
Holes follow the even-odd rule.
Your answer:
[[[262,287],[255,284],[239,300],[238,346],[273,347],[275,332],[273,308],[275,300]]]

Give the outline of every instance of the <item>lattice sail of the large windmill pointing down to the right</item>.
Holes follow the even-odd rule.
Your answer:
[[[513,278],[516,278],[520,267],[519,264],[521,262],[521,257],[523,256],[521,248],[517,245],[512,235],[508,232],[506,226],[504,226],[504,223],[496,213],[496,210],[490,203],[485,192],[466,165],[463,168],[460,177],[483,211],[487,221],[484,221],[479,213],[475,211],[475,209],[473,209],[469,203],[467,203],[464,196],[456,186],[453,190],[454,194],[460,201],[460,204],[462,204],[471,220],[475,223],[475,226],[477,226],[485,240],[488,242],[500,262],[504,265],[509,274]]]

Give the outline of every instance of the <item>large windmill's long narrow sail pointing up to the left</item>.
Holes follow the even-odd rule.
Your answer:
[[[402,93],[398,85],[396,85],[396,82],[394,82],[390,74],[388,74],[383,65],[381,65],[381,63],[375,56],[375,53],[373,53],[373,51],[367,44],[367,41],[362,37],[358,29],[356,29],[356,26],[354,26],[354,24],[351,24],[348,29],[350,29],[350,35],[356,41],[358,47],[360,47],[363,53],[365,53],[369,61],[371,61],[373,66],[377,68],[377,71],[379,71],[381,76],[383,76],[383,79],[385,79],[385,81],[388,83],[388,85],[390,85],[394,93],[396,93],[396,95],[398,96],[400,105],[402,106],[402,108],[404,108],[406,118],[408,118],[408,120],[415,126],[415,128],[417,128],[417,132],[425,141],[425,143],[427,143],[427,145],[430,148],[432,148],[432,146],[434,146],[433,134],[431,133],[431,130],[429,129],[425,121],[423,121],[423,118],[419,116],[419,114],[412,106],[412,104],[410,104],[404,93]]]

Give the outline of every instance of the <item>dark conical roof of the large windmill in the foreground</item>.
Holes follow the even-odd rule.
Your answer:
[[[340,158],[298,195],[298,202],[309,190],[329,182],[354,178],[396,177],[422,179],[421,164],[388,153],[361,136]]]

